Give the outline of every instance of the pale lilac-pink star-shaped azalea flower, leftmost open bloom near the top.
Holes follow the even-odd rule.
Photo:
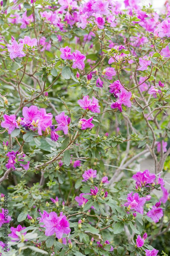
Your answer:
[[[22,43],[17,43],[17,41],[13,41],[12,44],[7,44],[8,51],[10,52],[9,57],[11,59],[17,58],[17,57],[24,57],[26,54],[23,52],[23,46]]]

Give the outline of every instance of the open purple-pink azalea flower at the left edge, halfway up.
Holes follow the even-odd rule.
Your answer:
[[[8,133],[11,134],[15,128],[19,128],[18,123],[16,122],[15,115],[3,115],[4,121],[2,121],[1,126],[3,128],[8,128]]]

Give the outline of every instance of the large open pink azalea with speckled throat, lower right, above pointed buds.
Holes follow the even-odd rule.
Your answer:
[[[140,214],[143,214],[143,205],[146,202],[145,197],[139,197],[138,193],[135,193],[132,195],[132,193],[127,194],[127,202],[124,204],[124,206],[128,207],[129,209],[133,209],[136,212],[139,212]]]

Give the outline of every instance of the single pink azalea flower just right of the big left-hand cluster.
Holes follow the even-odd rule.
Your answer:
[[[64,132],[64,134],[68,134],[68,130],[69,130],[69,123],[70,123],[70,117],[68,117],[68,115],[65,116],[64,112],[62,112],[59,115],[55,116],[55,119],[57,121],[57,129],[55,129],[55,131],[62,131]]]

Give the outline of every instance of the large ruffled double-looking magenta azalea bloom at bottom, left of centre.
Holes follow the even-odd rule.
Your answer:
[[[52,236],[56,233],[56,237],[58,239],[62,238],[63,234],[68,234],[71,229],[69,228],[70,223],[67,220],[65,215],[60,212],[60,216],[58,217],[56,212],[52,211],[49,213],[48,217],[44,217],[43,223],[46,227],[45,235]]]

